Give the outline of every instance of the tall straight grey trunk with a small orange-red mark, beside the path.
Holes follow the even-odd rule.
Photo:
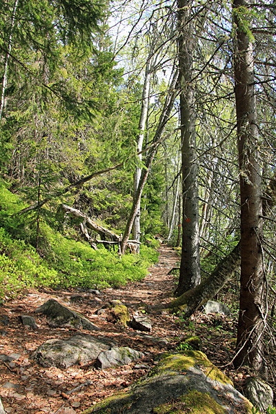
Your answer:
[[[193,0],[178,0],[179,84],[181,155],[182,155],[182,253],[179,284],[180,296],[200,283],[199,210],[197,193],[197,154],[195,137],[195,102],[193,86],[193,51],[195,33],[192,17]]]

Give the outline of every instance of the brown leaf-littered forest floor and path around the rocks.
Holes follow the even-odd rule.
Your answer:
[[[68,302],[71,295],[80,293],[79,290],[41,289],[23,292],[17,299],[0,307],[0,354],[16,358],[12,362],[0,360],[0,397],[6,413],[81,413],[106,396],[128,388],[152,368],[155,364],[153,357],[157,353],[179,350],[181,339],[191,335],[201,337],[202,351],[232,377],[240,391],[244,373],[233,371],[230,363],[235,348],[236,317],[197,312],[185,321],[166,311],[149,315],[152,322],[149,335],[167,339],[168,344],[162,345],[153,343],[145,335],[141,337],[132,328],[112,324],[95,315],[95,311],[111,299],[120,299],[128,306],[130,313],[141,301],[150,305],[170,301],[176,277],[168,273],[178,265],[179,256],[166,245],[160,246],[159,253],[159,262],[149,269],[150,275],[143,281],[102,290],[101,295],[93,297],[89,303],[87,300],[74,304]],[[146,356],[131,364],[104,370],[96,369],[92,364],[71,366],[64,370],[39,366],[32,359],[32,352],[39,345],[47,339],[65,339],[77,332],[73,328],[52,328],[48,326],[46,317],[34,313],[50,298],[66,302],[68,307],[88,317],[99,326],[99,332],[110,337],[117,346],[130,346]],[[20,315],[35,317],[38,329],[23,326]],[[85,330],[81,332],[90,333]]]

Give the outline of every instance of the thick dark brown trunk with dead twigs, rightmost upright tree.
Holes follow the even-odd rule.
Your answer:
[[[264,272],[261,240],[262,177],[258,152],[253,43],[248,34],[250,2],[233,1],[234,72],[241,198],[241,292],[235,366],[262,371]],[[247,30],[246,30],[246,28]]]

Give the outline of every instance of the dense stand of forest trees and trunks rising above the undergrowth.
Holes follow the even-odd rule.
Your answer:
[[[275,346],[274,2],[7,0],[0,11],[2,244],[55,263],[58,286],[72,282],[58,276],[58,231],[135,263],[126,248],[161,235],[182,248],[172,307],[186,315],[241,271],[235,364],[264,372]],[[95,282],[87,271],[79,284]]]

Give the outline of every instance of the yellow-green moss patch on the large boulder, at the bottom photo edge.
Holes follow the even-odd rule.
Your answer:
[[[172,403],[162,404],[153,409],[154,414],[225,414],[222,408],[208,393],[190,391]]]

